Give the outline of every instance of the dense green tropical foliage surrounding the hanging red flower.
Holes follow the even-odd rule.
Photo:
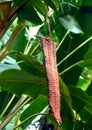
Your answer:
[[[44,130],[91,130],[92,1],[0,2],[0,130],[30,124]],[[48,36],[48,23],[56,42],[61,125],[48,114],[42,47],[35,37]]]

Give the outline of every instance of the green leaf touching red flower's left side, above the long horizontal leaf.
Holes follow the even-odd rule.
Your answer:
[[[37,75],[40,77],[44,77],[44,67],[40,64],[34,57],[30,55],[22,55],[20,53],[17,54],[17,59],[19,61],[19,66],[21,69],[30,72],[33,75]]]

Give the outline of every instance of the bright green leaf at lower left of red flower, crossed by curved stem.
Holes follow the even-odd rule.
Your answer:
[[[37,97],[30,105],[27,107],[26,110],[21,114],[20,120],[23,121],[28,117],[31,117],[34,114],[40,114],[41,111],[48,105],[47,97],[39,96]],[[44,113],[44,112],[43,112]],[[25,122],[22,127],[26,127],[31,124],[32,120],[35,118],[34,116],[32,119]]]

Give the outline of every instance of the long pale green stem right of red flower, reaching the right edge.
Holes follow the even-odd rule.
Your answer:
[[[74,54],[77,50],[79,50],[81,47],[83,47],[86,43],[92,40],[92,36],[89,37],[87,40],[85,40],[83,43],[81,43],[76,49],[74,49],[72,52],[70,52],[63,60],[61,60],[57,66],[60,66],[67,58],[69,58],[72,54]]]

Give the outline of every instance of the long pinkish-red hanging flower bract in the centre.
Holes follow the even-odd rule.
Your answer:
[[[55,117],[57,123],[60,124],[60,90],[56,65],[55,43],[51,42],[49,38],[37,37],[42,43],[47,83],[49,87],[49,105],[51,108],[51,114]]]

